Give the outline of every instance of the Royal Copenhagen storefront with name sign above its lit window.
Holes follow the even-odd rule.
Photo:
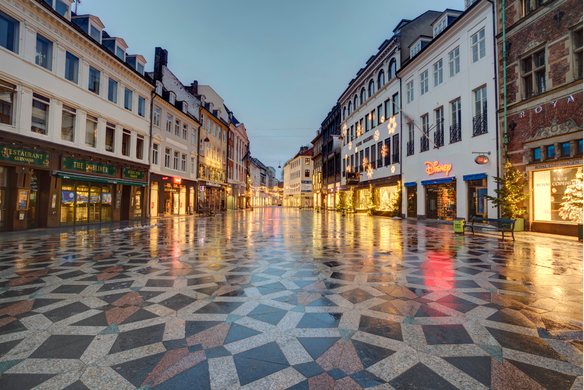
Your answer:
[[[536,232],[573,235],[582,223],[582,160],[527,166],[530,175],[531,215]]]

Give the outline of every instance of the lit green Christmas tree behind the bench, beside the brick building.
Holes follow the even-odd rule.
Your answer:
[[[499,189],[495,190],[498,197],[485,195],[485,198],[493,203],[493,207],[500,206],[503,218],[522,218],[525,214],[526,207],[517,206],[517,204],[529,199],[531,191],[523,192],[527,186],[527,180],[522,182],[522,178],[523,174],[515,169],[510,162],[505,164],[505,176],[493,176],[495,183],[499,184]]]

